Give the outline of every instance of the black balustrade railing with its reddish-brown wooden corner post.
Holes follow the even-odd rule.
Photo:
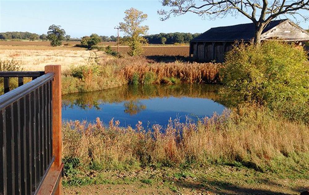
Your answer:
[[[61,67],[0,72],[0,194],[60,194]],[[10,91],[10,78],[19,87]],[[24,77],[32,81],[23,84]]]

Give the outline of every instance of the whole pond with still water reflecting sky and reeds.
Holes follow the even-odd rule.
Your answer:
[[[218,103],[218,85],[125,85],[103,91],[75,93],[62,96],[63,120],[95,121],[105,124],[114,118],[120,126],[144,127],[177,119],[197,121],[221,114],[224,106]]]

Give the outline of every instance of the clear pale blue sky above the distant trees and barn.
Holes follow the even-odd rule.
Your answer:
[[[148,34],[160,32],[205,32],[217,27],[250,20],[239,15],[216,20],[203,20],[188,13],[160,21],[157,10],[163,6],[157,0],[149,1],[3,1],[0,0],[0,32],[28,31],[38,34],[47,32],[50,25],[61,25],[71,37],[97,33],[116,36],[114,27],[123,20],[124,11],[134,7],[148,15],[144,25],[149,26]],[[302,12],[308,15],[307,12]],[[308,22],[301,22],[308,29]],[[122,33],[121,33],[122,35]]]

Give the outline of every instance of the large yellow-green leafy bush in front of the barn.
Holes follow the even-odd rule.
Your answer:
[[[232,104],[253,102],[309,121],[309,63],[303,49],[278,41],[241,43],[226,54],[221,76],[221,92]]]

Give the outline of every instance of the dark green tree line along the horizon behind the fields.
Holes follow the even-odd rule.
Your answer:
[[[190,40],[200,35],[200,33],[184,33],[184,32],[172,32],[172,33],[159,33],[153,35],[143,36],[149,44],[175,44],[175,43],[189,43]],[[1,32],[1,40],[42,40],[47,41],[47,34],[36,34],[31,32]],[[117,36],[99,36],[104,42],[116,42]],[[126,36],[119,37],[120,40],[125,39]],[[82,38],[71,38],[70,35],[66,35],[64,40],[76,40],[80,41]]]

